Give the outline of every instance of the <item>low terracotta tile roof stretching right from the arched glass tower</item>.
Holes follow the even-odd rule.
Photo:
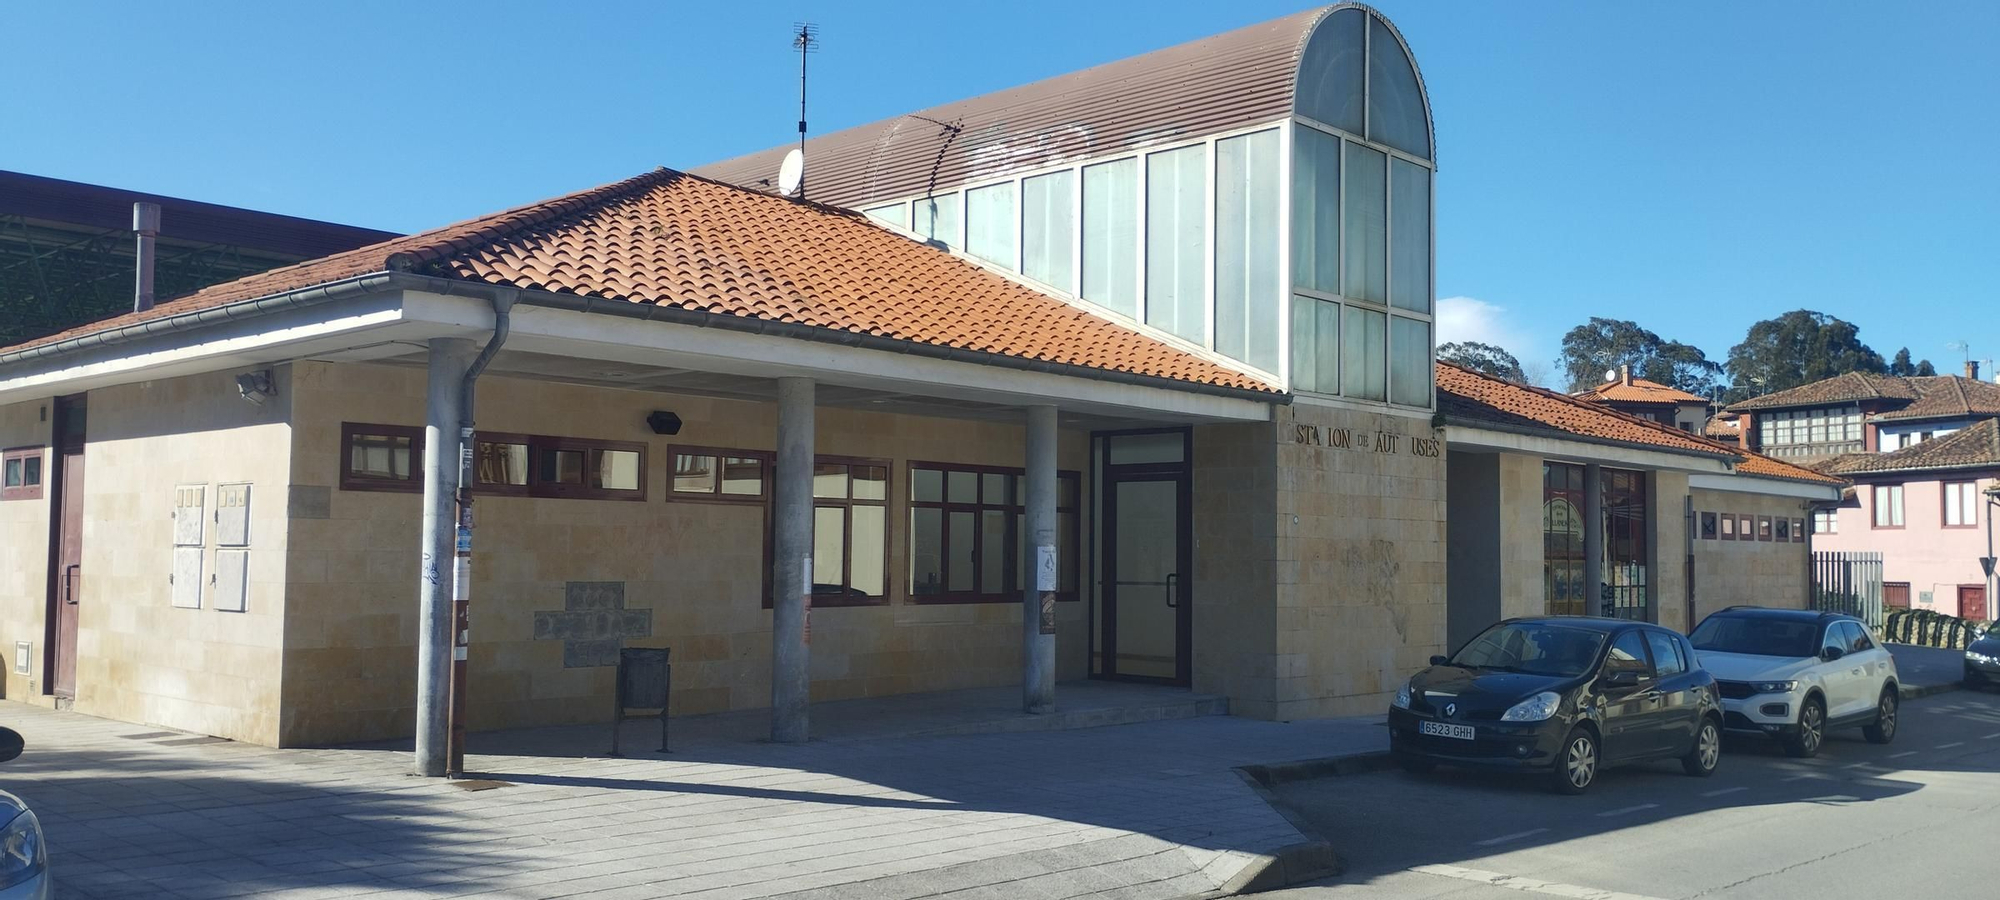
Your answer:
[[[1554,390],[1502,382],[1450,362],[1438,364],[1438,412],[1444,414],[1446,422],[1472,428],[1500,424],[1552,432],[1554,436],[1656,446],[1730,460],[1736,464],[1736,472],[1746,476],[1826,486],[1846,484],[1842,478],[1738,450],[1734,444],[1688,434],[1650,418],[1630,416]]]

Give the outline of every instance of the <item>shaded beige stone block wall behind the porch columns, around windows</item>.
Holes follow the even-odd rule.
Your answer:
[[[294,402],[294,490],[306,500],[292,522],[282,742],[410,734],[420,496],[340,490],[340,424],[420,426],[424,372],[300,364]],[[652,434],[652,410],[680,414],[680,434]],[[672,648],[674,714],[770,704],[764,508],[670,496],[668,482],[674,446],[774,448],[774,404],[488,376],[476,420],[642,442],[646,500],[476,500],[474,730],[608,720],[614,668],[602,662],[618,646]],[[888,604],[812,612],[814,700],[1018,682],[1020,604],[908,602],[904,502],[910,460],[1020,466],[1024,428],[822,406],[816,430],[816,452],[892,468]],[[1086,470],[1088,434],[1062,434],[1060,464]],[[1078,520],[1088,534],[1088,504]],[[1058,604],[1058,678],[1084,676],[1084,640],[1082,604]]]

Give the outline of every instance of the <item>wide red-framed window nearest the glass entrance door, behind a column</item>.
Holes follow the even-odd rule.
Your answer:
[[[1028,546],[1020,468],[910,462],[910,602],[1018,602]],[[1056,474],[1058,600],[1076,600],[1082,476]]]

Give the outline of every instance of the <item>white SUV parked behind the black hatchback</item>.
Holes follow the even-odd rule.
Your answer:
[[[1828,728],[1896,740],[1896,658],[1854,616],[1732,606],[1688,636],[1722,690],[1722,724],[1818,756]]]

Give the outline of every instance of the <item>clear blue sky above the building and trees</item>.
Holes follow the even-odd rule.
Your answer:
[[[794,20],[824,132],[1300,8],[22,4],[0,168],[420,230],[790,140]],[[2000,4],[1380,8],[1438,120],[1444,340],[1534,368],[1614,316],[1720,360],[1804,306],[2000,356]]]

